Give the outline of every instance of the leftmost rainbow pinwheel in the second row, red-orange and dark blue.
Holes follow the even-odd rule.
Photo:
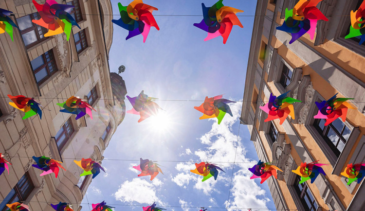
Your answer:
[[[31,116],[39,114],[39,118],[42,119],[42,110],[40,109],[40,105],[34,98],[25,97],[23,95],[12,96],[8,94],[8,97],[13,102],[9,102],[9,105],[25,112],[24,117],[22,118],[27,119]]]

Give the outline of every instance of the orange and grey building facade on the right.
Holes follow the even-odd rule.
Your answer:
[[[257,1],[240,120],[248,125],[258,158],[283,170],[267,180],[278,210],[364,210],[364,180],[347,185],[340,175],[348,163],[365,161],[365,45],[344,38],[350,11],[362,1],[321,1],[317,7],[329,21],[318,22],[313,40],[306,34],[292,44],[291,35],[276,27],[298,0]],[[267,114],[259,106],[270,93],[287,91],[302,101],[294,103],[295,119],[264,122]],[[314,102],[336,93],[354,98],[349,102],[356,109],[348,109],[346,122],[324,126],[313,118]],[[316,160],[329,164],[323,167],[327,175],[299,184],[292,170]]]

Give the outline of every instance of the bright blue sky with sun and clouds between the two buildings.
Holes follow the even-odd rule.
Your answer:
[[[118,0],[111,2],[113,14],[119,14]],[[159,9],[154,15],[202,14],[200,0],[144,2]],[[216,1],[203,2],[211,6]],[[128,31],[113,26],[110,71],[117,72],[120,65],[126,67],[121,76],[129,96],[137,96],[145,90],[150,97],[168,101],[156,101],[164,111],[141,123],[137,123],[139,116],[126,114],[104,153],[102,165],[107,173],[93,179],[83,203],[105,200],[116,211],[141,211],[142,206],[154,201],[168,211],[200,210],[181,207],[212,207],[208,209],[211,211],[224,210],[218,208],[226,206],[253,210],[274,208],[267,183],[261,185],[259,179],[250,179],[248,167],[254,165],[257,155],[247,126],[239,126],[242,104],[231,104],[234,117],[226,115],[218,125],[214,119],[199,120],[201,113],[193,107],[201,102],[171,101],[203,101],[205,96],[219,94],[241,101],[256,1],[224,0],[223,3],[245,11],[238,15],[248,16],[239,17],[244,28],[234,26],[225,45],[222,37],[203,41],[206,32],[193,26],[202,17],[155,16],[160,31],[152,27],[146,43],[142,35],[126,41]],[[114,19],[119,17],[114,16]],[[128,101],[126,105],[127,110],[131,109]],[[252,163],[235,164],[228,202],[237,141],[236,162]],[[153,181],[149,176],[137,177],[132,166],[139,164],[139,158],[158,161],[164,175],[159,174]],[[219,162],[225,173],[220,172],[217,181],[211,178],[201,182],[201,177],[189,171],[195,169],[193,161]],[[83,204],[82,211],[90,210],[91,205],[89,208]]]

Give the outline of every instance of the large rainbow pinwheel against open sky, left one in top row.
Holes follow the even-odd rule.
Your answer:
[[[142,0],[133,0],[128,6],[123,6],[118,3],[120,17],[118,20],[111,20],[111,22],[129,31],[126,40],[137,35],[143,36],[143,42],[146,42],[151,26],[160,30],[152,12],[158,10],[143,3]]]

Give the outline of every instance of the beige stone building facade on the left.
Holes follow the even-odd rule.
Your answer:
[[[119,75],[110,78],[108,63],[113,28],[112,17],[104,14],[112,13],[110,0],[56,1],[75,6],[71,15],[81,30],[73,27],[69,41],[65,34],[44,37],[47,30],[31,21],[39,18],[31,0],[0,1],[19,26],[14,42],[0,35],[0,153],[12,163],[10,174],[0,176],[0,211],[19,201],[33,211],[51,211],[50,204],[60,201],[80,210],[91,176],[80,178],[83,170],[73,160],[101,162],[124,119],[126,87]],[[24,113],[8,104],[8,94],[34,97],[43,106],[42,119],[22,120]],[[56,103],[73,95],[95,108],[92,119],[59,112]],[[67,171],[60,170],[57,178],[39,176],[32,156],[62,161]]]

